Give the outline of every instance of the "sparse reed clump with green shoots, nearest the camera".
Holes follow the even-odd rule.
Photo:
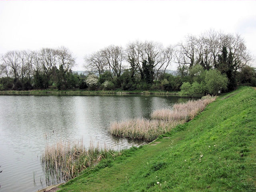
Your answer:
[[[96,165],[103,158],[114,156],[114,151],[99,144],[85,148],[82,140],[80,142],[58,142],[56,145],[47,145],[40,160],[46,175],[47,184],[56,184],[61,181],[70,180],[91,166]]]

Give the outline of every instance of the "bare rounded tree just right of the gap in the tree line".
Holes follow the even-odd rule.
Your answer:
[[[103,74],[108,66],[103,51],[97,51],[90,55],[84,56],[84,67],[90,72]]]

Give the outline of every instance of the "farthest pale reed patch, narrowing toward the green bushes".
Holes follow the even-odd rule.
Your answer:
[[[160,109],[152,112],[151,118],[165,121],[189,121],[192,120],[198,113],[202,112],[204,108],[216,97],[204,96],[199,100],[189,100],[186,103],[174,104],[173,109]]]

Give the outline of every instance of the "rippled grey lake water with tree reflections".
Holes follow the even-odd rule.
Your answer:
[[[0,192],[34,192],[46,186],[40,166],[46,144],[80,138],[86,146],[94,140],[115,149],[144,144],[111,136],[110,122],[149,118],[153,110],[186,100],[174,96],[0,96]]]

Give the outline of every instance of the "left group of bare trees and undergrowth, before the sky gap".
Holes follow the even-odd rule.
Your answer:
[[[1,57],[0,88],[3,90],[72,88],[76,77],[71,68],[75,58],[68,48],[42,48],[39,51],[9,51]]]

